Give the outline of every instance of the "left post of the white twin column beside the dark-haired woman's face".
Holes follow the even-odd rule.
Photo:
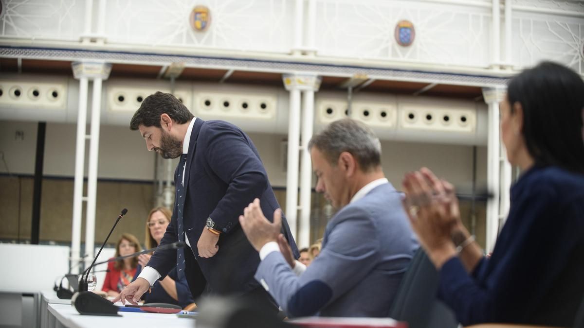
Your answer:
[[[485,102],[489,106],[488,144],[487,144],[487,186],[493,197],[486,203],[486,252],[495,247],[500,218],[500,165],[501,147],[499,136],[499,103],[505,96],[505,89],[489,88],[482,90]]]

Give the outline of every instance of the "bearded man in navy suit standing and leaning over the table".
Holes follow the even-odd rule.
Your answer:
[[[140,130],[148,151],[156,151],[163,158],[180,156],[175,172],[175,207],[160,245],[180,240],[187,247],[178,252],[155,252],[148,266],[117,299],[135,303],[154,281],[164,278],[178,264],[179,274],[184,269],[195,299],[201,294],[244,295],[277,310],[272,298],[253,279],[258,252],[238,222],[238,216],[254,198],[262,200],[266,214],[279,208],[251,139],[225,121],[193,117],[176,97],[162,92],[144,99],[130,121],[130,129]],[[298,249],[285,219],[281,232],[297,258]]]

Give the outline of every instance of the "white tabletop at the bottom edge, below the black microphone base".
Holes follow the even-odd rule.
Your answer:
[[[196,326],[196,320],[178,317],[175,314],[118,312],[121,316],[80,315],[72,306],[66,304],[48,304],[49,312],[65,327],[189,327]]]

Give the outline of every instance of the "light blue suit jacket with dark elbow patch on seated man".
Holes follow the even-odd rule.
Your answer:
[[[387,183],[331,219],[321,253],[300,277],[272,252],[255,278],[288,316],[384,317],[416,249],[401,194]]]

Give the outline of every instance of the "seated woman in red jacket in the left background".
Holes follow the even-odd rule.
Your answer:
[[[130,255],[141,250],[140,242],[138,242],[138,239],[134,235],[131,233],[123,233],[117,241],[116,255],[114,257]],[[105,291],[107,296],[115,297],[117,294],[120,294],[121,289],[124,289],[132,281],[137,266],[137,257],[108,263],[108,271],[103,281],[102,291]]]

